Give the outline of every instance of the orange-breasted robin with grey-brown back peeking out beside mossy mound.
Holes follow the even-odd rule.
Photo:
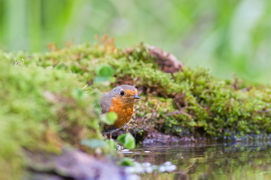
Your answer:
[[[101,95],[99,101],[101,113],[114,111],[118,115],[118,119],[113,125],[104,124],[102,134],[107,134],[107,139],[111,139],[112,133],[120,130],[132,118],[136,99],[140,99],[137,93],[134,86],[119,85],[112,91]]]

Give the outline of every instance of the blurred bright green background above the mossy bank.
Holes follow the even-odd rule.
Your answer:
[[[0,0],[8,51],[95,42],[95,34],[117,47],[160,46],[221,79],[271,83],[270,0]]]

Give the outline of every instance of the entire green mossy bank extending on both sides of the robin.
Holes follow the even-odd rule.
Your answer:
[[[58,152],[64,144],[82,148],[82,139],[101,139],[98,94],[121,84],[136,86],[141,96],[123,128],[138,140],[153,129],[212,137],[271,131],[269,86],[218,80],[202,67],[174,68],[149,46],[117,49],[106,37],[93,46],[49,47],[46,53],[17,53],[24,64],[15,61],[16,67],[12,53],[0,52],[0,142],[7,147],[0,164],[9,160],[9,173],[19,166],[12,162],[22,147]],[[113,67],[113,75],[103,67]],[[86,84],[85,94],[77,86]]]

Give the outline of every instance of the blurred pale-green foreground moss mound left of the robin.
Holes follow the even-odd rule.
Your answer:
[[[0,62],[1,178],[19,177],[23,149],[60,153],[63,146],[80,148],[82,139],[102,139],[92,106],[99,94],[84,94],[64,70]]]

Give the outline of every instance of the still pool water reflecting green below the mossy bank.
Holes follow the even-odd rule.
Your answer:
[[[142,173],[142,179],[271,179],[270,143],[152,146],[126,152],[122,151],[125,157],[140,163],[160,165],[171,161],[177,166],[170,173]]]

